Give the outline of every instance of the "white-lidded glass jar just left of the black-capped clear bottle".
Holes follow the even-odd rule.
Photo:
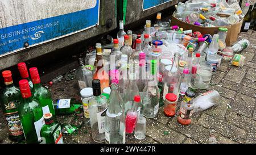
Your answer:
[[[90,127],[89,105],[92,104],[93,89],[91,87],[86,87],[80,91],[80,94],[82,100],[82,107],[84,109],[85,126]]]

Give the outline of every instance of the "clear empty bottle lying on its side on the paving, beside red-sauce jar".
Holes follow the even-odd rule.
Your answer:
[[[204,94],[199,95],[193,100],[195,105],[194,112],[207,110],[220,101],[220,94],[216,90],[207,91]]]

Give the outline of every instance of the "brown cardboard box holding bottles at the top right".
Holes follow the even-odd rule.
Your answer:
[[[232,26],[223,26],[228,28],[228,35],[226,36],[226,45],[230,46],[233,43],[237,41],[237,37],[240,33],[241,27],[242,27],[243,19],[240,20],[240,22],[233,24]],[[201,26],[195,26],[193,24],[189,24],[186,22],[183,22],[174,16],[172,16],[172,22],[171,26],[179,26],[182,27],[184,30],[192,30],[193,32],[195,31],[200,31],[203,34],[210,34],[214,35],[218,33],[218,28],[219,27],[201,27]]]

